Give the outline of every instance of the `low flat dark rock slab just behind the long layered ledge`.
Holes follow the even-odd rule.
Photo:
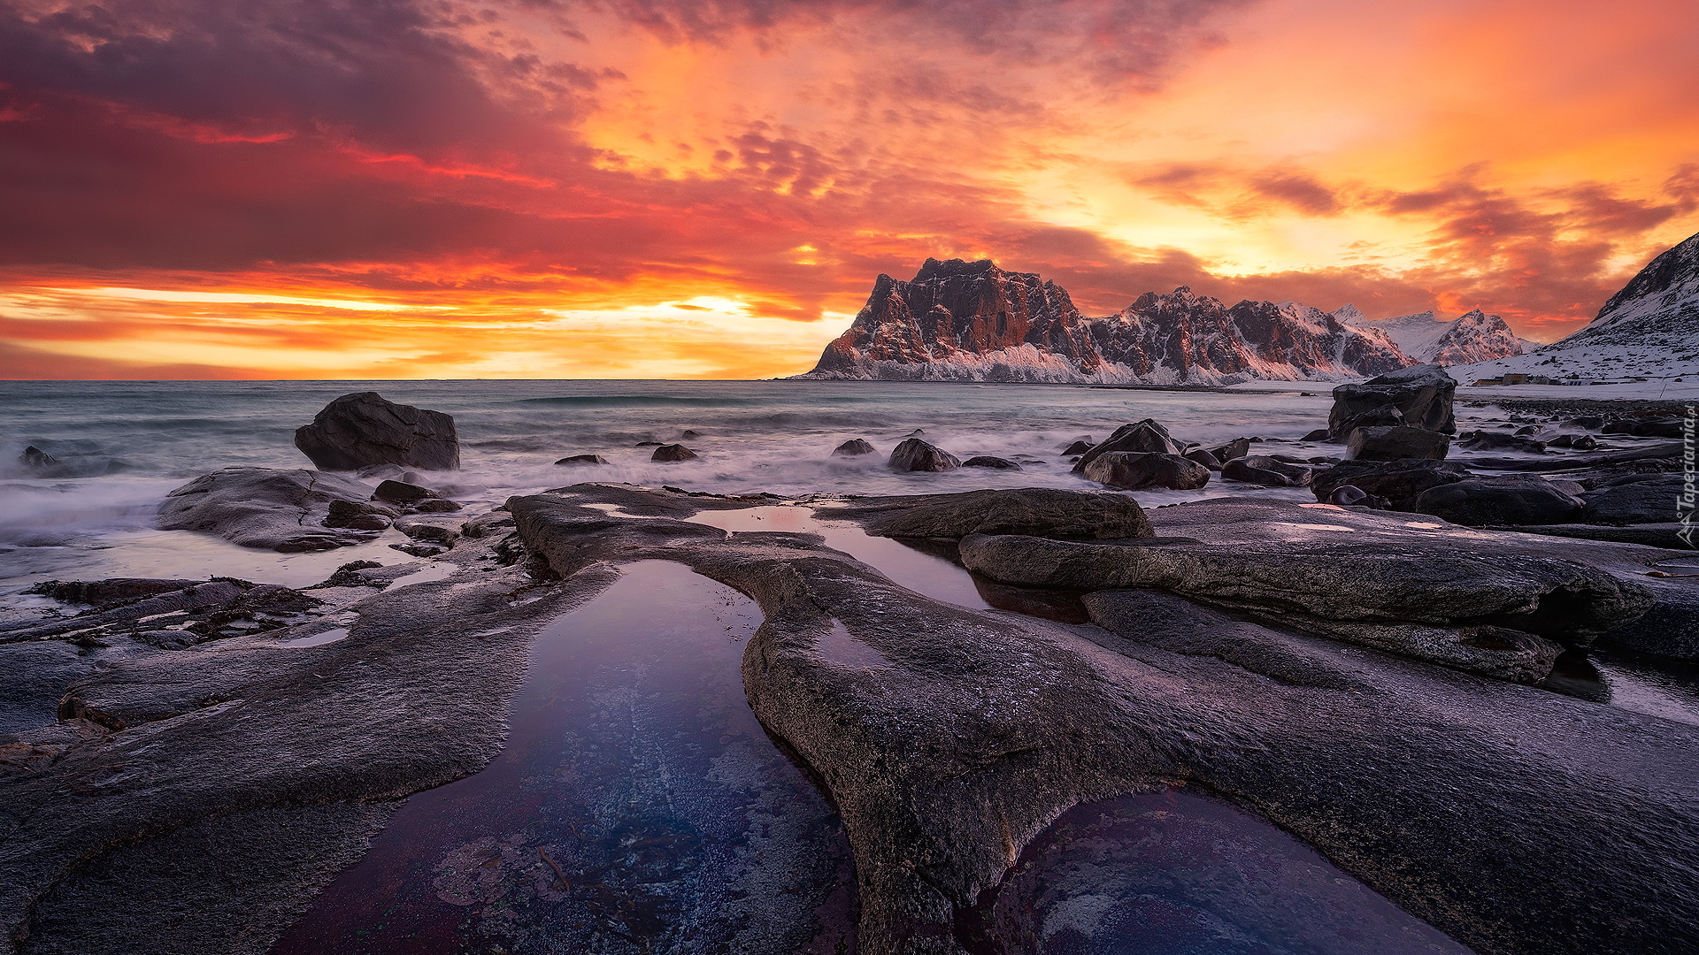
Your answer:
[[[861,498],[850,506],[821,510],[831,520],[853,520],[882,537],[943,537],[1024,534],[1070,540],[1150,537],[1150,518],[1126,494],[1011,488],[962,494]]]

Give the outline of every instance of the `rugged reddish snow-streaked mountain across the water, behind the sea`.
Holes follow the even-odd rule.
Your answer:
[[[800,377],[1233,384],[1332,381],[1415,364],[1380,330],[1296,302],[1232,308],[1181,287],[1086,318],[1067,291],[991,260],[880,275],[855,323]]]

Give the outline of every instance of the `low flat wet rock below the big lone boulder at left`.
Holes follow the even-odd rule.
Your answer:
[[[177,488],[160,503],[160,530],[206,530],[243,547],[284,554],[330,551],[370,540],[325,527],[331,501],[364,501],[372,489],[321,471],[224,467]]]

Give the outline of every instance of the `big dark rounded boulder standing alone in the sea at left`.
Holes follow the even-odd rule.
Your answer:
[[[321,471],[399,464],[449,471],[460,466],[454,418],[386,401],[375,391],[343,394],[296,428],[296,447]]]

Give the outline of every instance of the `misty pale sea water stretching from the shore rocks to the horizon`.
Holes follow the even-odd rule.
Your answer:
[[[156,530],[160,501],[229,466],[311,467],[294,430],[331,399],[375,391],[454,416],[460,469],[426,474],[469,505],[579,481],[724,494],[914,494],[977,488],[1096,488],[1070,474],[1070,442],[1155,418],[1179,437],[1293,438],[1325,425],[1325,389],[1160,391],[1047,384],[814,381],[121,381],[0,382],[0,602],[44,579],[240,576],[301,586],[353,559],[409,557],[370,544],[272,554],[207,534]],[[1019,471],[962,467],[899,474],[890,449],[923,432],[960,459],[994,455]],[[688,435],[686,435],[688,433]],[[878,454],[834,457],[850,438]],[[642,442],[683,442],[695,461],[652,462]],[[19,455],[59,459],[44,478]],[[1286,449],[1291,450],[1291,449]],[[1317,447],[1313,454],[1337,449]],[[557,466],[598,454],[607,466]],[[1254,489],[1312,500],[1303,489]],[[1147,506],[1247,486],[1140,491]],[[15,603],[15,600],[14,600]]]

